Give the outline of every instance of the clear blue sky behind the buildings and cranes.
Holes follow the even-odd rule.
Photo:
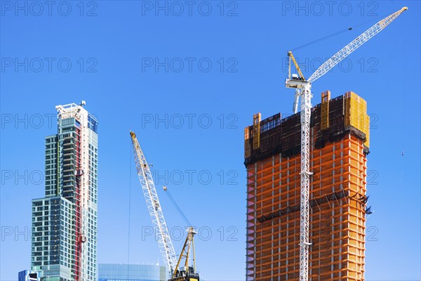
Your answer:
[[[314,83],[313,104],[326,89],[333,97],[354,91],[367,100],[373,120],[368,195],[374,213],[367,221],[366,279],[420,280],[419,1],[335,2],[331,10],[328,1],[302,1],[302,9],[295,1],[236,1],[223,3],[224,11],[220,1],[211,1],[208,16],[201,1],[194,2],[191,15],[186,2],[178,2],[184,6],[180,15],[180,6],[168,2],[168,16],[165,11],[156,16],[155,1],[84,2],[83,11],[79,1],[67,3],[72,8],[67,16],[59,1],[51,15],[46,4],[40,11],[27,2],[25,15],[15,10],[15,1],[1,1],[0,280],[16,280],[18,271],[30,266],[30,237],[6,234],[25,233],[31,200],[44,196],[38,177],[44,173],[44,137],[56,133],[55,124],[48,124],[55,105],[81,100],[100,122],[98,262],[126,263],[130,253],[131,263],[162,264],[154,239],[142,239],[152,223],[135,175],[132,129],[154,169],[161,175],[168,171],[168,188],[189,221],[201,228],[196,259],[203,277],[244,280],[243,128],[255,112],[263,118],[291,113],[293,91],[284,87],[286,51],[356,26],[294,52],[309,77],[321,58],[402,6],[408,11]],[[24,66],[15,69],[15,58]],[[168,72],[145,65],[148,58],[168,58]],[[191,71],[186,58],[192,58]],[[65,72],[67,61],[72,67]],[[208,61],[212,67],[205,72]],[[145,123],[166,115],[168,128],[165,122]],[[192,181],[186,170],[195,171]],[[27,177],[19,178],[25,171]],[[158,190],[168,226],[178,236],[185,223]],[[181,243],[174,241],[176,251]]]

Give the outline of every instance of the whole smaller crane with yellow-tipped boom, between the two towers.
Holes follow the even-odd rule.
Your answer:
[[[196,273],[193,238],[196,234],[196,230],[194,230],[192,226],[187,228],[185,244],[182,248],[180,257],[177,259],[173,242],[171,241],[168,227],[166,226],[165,218],[163,217],[161,204],[159,203],[159,197],[156,193],[154,179],[149,169],[149,164],[147,164],[145,155],[140,148],[136,134],[131,131],[130,136],[133,143],[133,152],[135,154],[136,170],[138,172],[140,184],[142,185],[143,195],[145,195],[147,209],[156,230],[161,256],[167,268],[168,275],[170,276],[168,281],[199,281],[199,273]],[[166,190],[167,188],[163,187],[163,189]],[[191,252],[193,254],[193,266],[189,266]],[[185,259],[185,267],[181,269],[180,264],[183,258]]]

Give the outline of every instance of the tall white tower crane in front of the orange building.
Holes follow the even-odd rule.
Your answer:
[[[392,15],[380,20],[356,37],[351,43],[347,44],[338,53],[326,60],[310,77],[305,79],[292,51],[288,51],[289,65],[288,78],[285,81],[286,88],[295,89],[295,101],[293,105],[294,113],[298,112],[298,101],[301,98],[301,190],[300,190],[300,281],[308,280],[308,259],[309,259],[309,183],[312,172],[309,171],[309,148],[310,148],[310,117],[312,108],[312,83],[322,77],[326,72],[331,70],[335,65],[340,63],[349,54],[363,45],[375,34],[379,33],[393,20],[395,20],[403,11],[408,10],[407,7],[401,8]],[[291,60],[295,65],[298,74],[291,75]]]

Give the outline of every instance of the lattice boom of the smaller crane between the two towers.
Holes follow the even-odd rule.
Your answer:
[[[177,266],[177,257],[175,256],[173,242],[171,241],[165,218],[163,217],[161,204],[159,204],[154,179],[152,178],[152,173],[149,169],[149,165],[147,164],[145,155],[143,155],[142,149],[140,148],[136,134],[131,131],[130,135],[135,154],[136,170],[138,171],[139,180],[142,184],[142,191],[143,195],[145,195],[147,209],[156,230],[159,250],[161,251],[161,256],[166,265],[169,276],[173,276],[175,267]]]

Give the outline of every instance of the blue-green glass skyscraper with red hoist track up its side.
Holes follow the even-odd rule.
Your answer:
[[[98,121],[81,105],[58,105],[47,136],[45,197],[32,200],[31,268],[43,281],[98,280]]]

